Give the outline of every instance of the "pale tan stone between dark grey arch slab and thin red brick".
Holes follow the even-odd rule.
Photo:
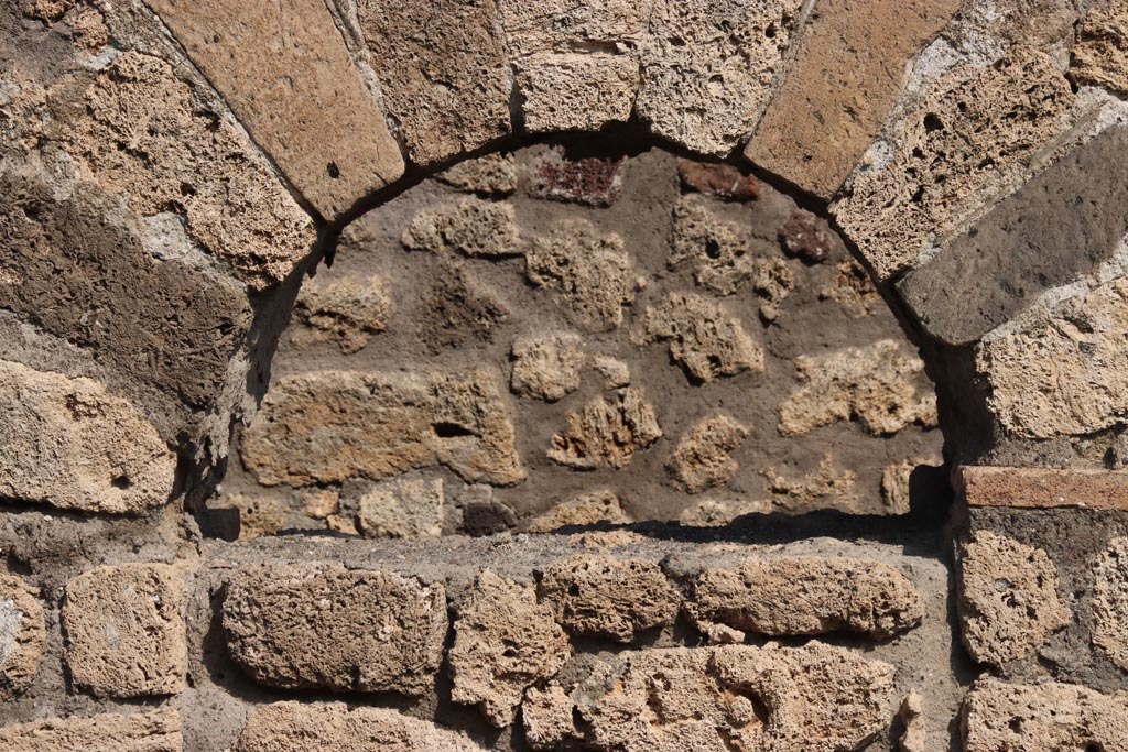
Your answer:
[[[976,369],[1013,435],[1091,434],[1128,416],[1128,280],[1032,311],[984,339]]]

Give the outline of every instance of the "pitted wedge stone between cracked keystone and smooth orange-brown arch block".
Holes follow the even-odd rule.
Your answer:
[[[693,151],[725,157],[756,125],[801,0],[656,0],[642,46],[638,115]]]

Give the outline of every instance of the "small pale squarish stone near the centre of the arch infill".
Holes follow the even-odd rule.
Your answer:
[[[521,337],[513,343],[510,389],[521,397],[555,402],[580,388],[584,355],[572,333]]]

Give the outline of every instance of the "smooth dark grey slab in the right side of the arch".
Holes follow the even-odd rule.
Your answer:
[[[1013,139],[1006,149],[1017,149]],[[1128,179],[1114,167],[1126,150],[1128,127],[1110,127],[910,272],[898,289],[925,329],[976,342],[1108,260],[1128,232]]]

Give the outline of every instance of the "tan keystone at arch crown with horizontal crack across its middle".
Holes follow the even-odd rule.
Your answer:
[[[596,131],[631,117],[650,0],[500,7],[528,131]]]

